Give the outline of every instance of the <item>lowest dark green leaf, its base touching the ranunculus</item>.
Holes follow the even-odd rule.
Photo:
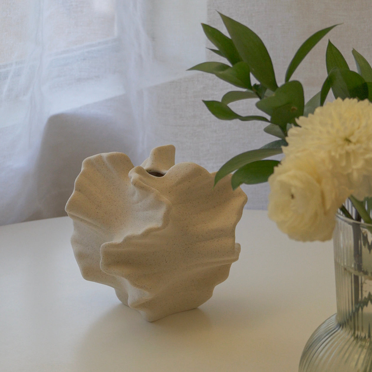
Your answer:
[[[253,185],[267,182],[273,174],[274,168],[280,163],[278,160],[259,160],[239,168],[231,177],[231,186],[235,190],[242,183]]]

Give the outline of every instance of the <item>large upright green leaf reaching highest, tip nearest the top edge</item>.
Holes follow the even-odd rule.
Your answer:
[[[247,26],[219,13],[241,58],[251,73],[273,92],[278,88],[273,63],[262,40]]]

